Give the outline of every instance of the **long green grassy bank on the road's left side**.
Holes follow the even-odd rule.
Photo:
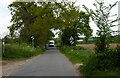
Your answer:
[[[32,48],[26,44],[6,44],[5,52],[2,55],[3,60],[22,60],[32,56],[43,54],[44,48]]]

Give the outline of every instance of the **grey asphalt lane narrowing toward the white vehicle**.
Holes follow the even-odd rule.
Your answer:
[[[10,76],[78,76],[72,64],[56,48],[49,48],[42,56],[33,58],[13,70]]]

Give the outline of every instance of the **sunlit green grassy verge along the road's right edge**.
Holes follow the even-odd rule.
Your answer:
[[[72,63],[84,63],[89,56],[94,55],[93,51],[87,50],[80,46],[64,46],[60,47],[59,50],[65,54]]]

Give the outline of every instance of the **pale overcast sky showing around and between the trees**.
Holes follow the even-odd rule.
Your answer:
[[[8,5],[11,4],[12,1],[13,0],[1,0],[0,1],[0,37],[3,37],[9,33],[9,30],[7,29],[7,27],[11,25],[10,20],[12,16],[10,14],[10,10],[8,9]],[[120,1],[120,0],[104,0],[106,5],[113,4],[116,1]],[[82,5],[84,4],[88,8],[95,9],[93,6],[93,3],[95,3],[95,0],[77,0],[76,5],[80,5],[80,9],[85,11],[82,8]],[[112,15],[118,14],[118,5],[112,9],[111,14]],[[90,22],[90,26],[93,29],[93,36],[96,36],[96,30],[98,29],[97,26],[94,24],[94,22]],[[118,30],[118,27],[114,27],[112,29]]]

